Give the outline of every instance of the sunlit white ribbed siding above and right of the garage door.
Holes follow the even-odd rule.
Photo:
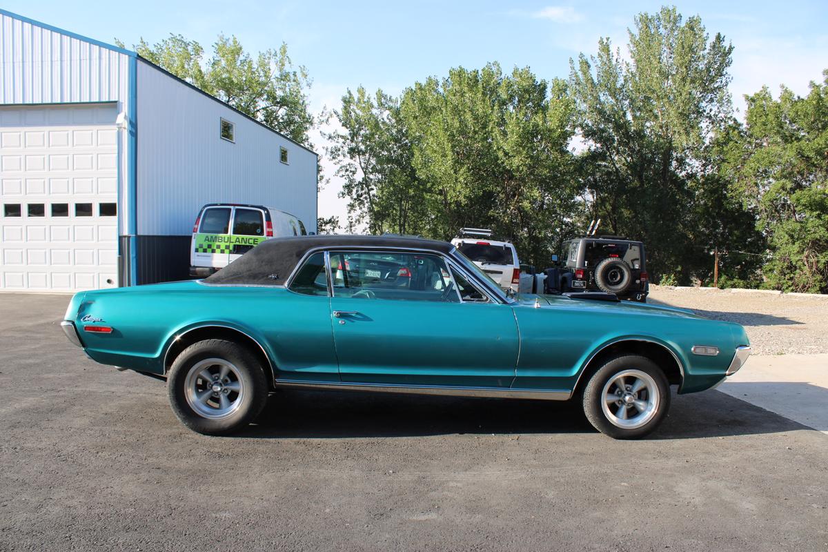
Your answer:
[[[128,113],[130,55],[49,27],[0,12],[0,104],[118,102],[117,113]],[[118,134],[118,233],[125,234],[128,137]]]

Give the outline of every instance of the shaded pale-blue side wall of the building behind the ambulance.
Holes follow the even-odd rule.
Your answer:
[[[313,153],[140,59],[137,87],[139,235],[190,235],[214,202],[265,204],[315,230]],[[235,124],[235,143],[219,137],[220,118]]]

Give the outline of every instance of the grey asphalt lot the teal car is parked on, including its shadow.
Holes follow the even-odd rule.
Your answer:
[[[828,550],[828,435],[719,391],[636,442],[575,405],[296,391],[205,437],[66,341],[68,299],[0,294],[0,550]]]

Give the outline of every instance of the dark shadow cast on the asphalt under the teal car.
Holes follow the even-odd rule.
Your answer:
[[[648,439],[697,439],[806,429],[719,391],[672,396]],[[440,434],[595,434],[577,401],[521,401],[347,391],[280,391],[256,423],[258,439],[342,439]]]

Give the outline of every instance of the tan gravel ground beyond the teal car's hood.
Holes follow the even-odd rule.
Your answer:
[[[650,286],[647,300],[742,324],[753,354],[828,353],[828,298]]]

